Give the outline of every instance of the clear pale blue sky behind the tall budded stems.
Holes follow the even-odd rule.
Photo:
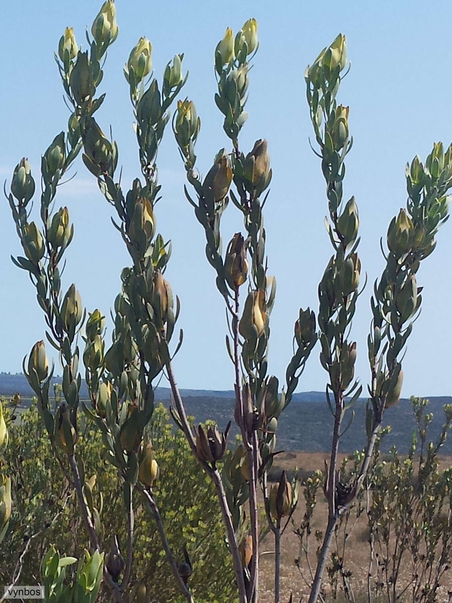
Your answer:
[[[22,156],[29,158],[39,182],[40,154],[65,128],[68,116],[53,52],[66,26],[74,27],[78,42],[86,46],[85,27],[90,27],[100,5],[93,0],[2,2],[0,176],[2,181],[7,179],[8,187]],[[198,168],[206,174],[215,153],[228,145],[213,102],[213,50],[227,26],[236,32],[251,16],[259,22],[260,49],[250,75],[247,106],[250,119],[242,130],[240,146],[247,151],[255,139],[269,140],[274,176],[265,226],[269,272],[278,283],[269,372],[280,380],[290,359],[298,308],[310,305],[317,311],[317,285],[331,254],[323,226],[324,180],[308,144],[312,128],[303,72],[337,33],[346,34],[352,68],[338,99],[350,105],[354,147],[347,157],[345,195],[354,194],[359,205],[359,253],[369,276],[353,327],[357,375],[365,386],[369,295],[383,268],[378,241],[406,203],[405,164],[416,153],[424,160],[433,141],[448,145],[452,138],[452,4],[117,0],[116,5],[119,37],[108,52],[100,89],[107,92],[107,98],[97,118],[105,131],[110,124],[113,127],[119,164],[124,168],[123,189],[139,175],[133,116],[122,75],[139,36],[152,42],[159,78],[166,62],[176,52],[185,52],[183,64],[190,76],[183,95],[195,101],[201,116],[196,154]],[[111,225],[111,208],[94,178],[80,159],[76,169],[77,176],[60,188],[56,200],[57,207],[69,207],[75,224],[63,288],[75,282],[87,309],[98,307],[108,315],[120,286],[119,273],[129,259]],[[157,228],[173,241],[167,276],[181,299],[178,326],[184,329],[184,344],[175,359],[177,379],[181,387],[231,389],[223,301],[204,255],[204,233],[184,198],[184,171],[170,128],[160,150],[159,169],[163,200],[157,205]],[[34,218],[38,217],[36,212]],[[225,244],[241,226],[239,213],[230,206],[223,219]],[[27,274],[10,260],[10,253],[20,254],[21,249],[6,200],[0,203],[0,228],[0,371],[16,372],[33,343],[43,338],[45,322]],[[404,359],[403,396],[452,394],[447,345],[452,336],[451,229],[452,222],[442,227],[435,253],[419,271],[419,285],[425,287],[423,309]],[[318,351],[310,358],[300,391],[324,389],[326,374]]]

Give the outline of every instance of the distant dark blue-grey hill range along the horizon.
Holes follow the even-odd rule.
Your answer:
[[[61,381],[61,379],[56,379]],[[12,396],[18,391],[23,397],[31,397],[33,391],[28,386],[24,375],[0,373],[0,394]],[[155,399],[169,405],[169,388],[157,388]],[[188,415],[202,422],[207,418],[217,421],[224,429],[229,420],[233,421],[233,391],[213,390],[181,390]],[[81,387],[81,397],[87,397],[86,384]],[[452,396],[432,397],[428,412],[433,412],[433,420],[428,432],[428,439],[438,438],[444,421],[443,405],[452,403]],[[347,425],[347,417],[345,425]],[[327,452],[330,448],[333,417],[325,402],[325,394],[319,391],[301,392],[293,396],[293,402],[280,416],[278,429],[278,449],[304,450],[307,452]],[[385,413],[385,425],[391,425],[392,431],[385,438],[383,449],[387,451],[392,444],[400,453],[407,453],[411,445],[415,420],[409,400],[400,400],[397,406]],[[237,430],[233,430],[233,434]],[[353,452],[362,449],[366,443],[365,435],[365,400],[360,399],[355,405],[353,425],[341,438],[341,450]],[[446,440],[442,453],[452,455],[452,434]]]

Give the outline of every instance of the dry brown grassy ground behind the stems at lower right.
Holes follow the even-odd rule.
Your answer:
[[[339,462],[342,461],[344,456],[340,455]],[[287,452],[281,454],[278,457],[278,467],[281,469],[303,469],[304,472],[310,472],[315,469],[322,469],[324,467],[324,459],[327,459],[325,453],[308,453],[298,452],[292,453]],[[450,467],[452,464],[452,457],[442,456],[440,459],[441,469]],[[275,459],[276,460],[276,459]],[[295,526],[300,526],[305,511],[303,490],[300,491],[300,500],[298,507],[293,514],[293,520]],[[324,530],[327,523],[327,503],[323,496],[323,493],[319,493],[318,504],[313,519],[313,533],[315,530]],[[356,526],[354,526],[353,532],[350,536],[350,546],[345,557],[345,565],[347,569],[353,572],[353,588],[357,596],[357,601],[364,601],[359,597],[360,592],[366,591],[366,580],[368,573],[368,552],[369,545],[367,542],[366,535],[366,514],[363,513],[360,517]],[[289,601],[290,592],[293,593],[293,603],[298,603],[300,599],[303,602],[307,601],[309,596],[309,589],[304,584],[303,578],[300,575],[299,570],[295,566],[294,560],[299,555],[299,544],[298,537],[293,533],[293,526],[289,523],[286,532],[284,532],[281,541],[281,603],[287,603]],[[317,548],[316,540],[312,535],[312,564],[315,569],[315,551]],[[259,584],[259,601],[261,603],[273,603],[274,601],[274,548],[273,548],[273,536],[269,534],[263,542],[261,551],[264,553],[260,558],[260,584]],[[307,569],[306,560],[302,560],[302,569],[309,575]],[[441,587],[441,595],[439,601],[447,603],[448,589],[452,587],[452,570],[445,574],[445,584]],[[365,599],[366,600],[366,599]]]

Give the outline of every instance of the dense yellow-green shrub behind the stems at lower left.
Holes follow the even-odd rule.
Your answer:
[[[34,584],[50,545],[66,555],[80,557],[83,548],[89,547],[89,540],[74,492],[58,466],[36,406],[33,404],[15,423],[9,423],[8,430],[10,441],[4,457],[14,476],[14,499],[7,546],[0,551],[0,582],[11,582],[19,557],[32,537],[23,558],[20,583]],[[194,568],[190,582],[196,601],[234,601],[231,558],[209,476],[193,458],[184,435],[174,432],[163,405],[155,409],[149,432],[160,467],[155,497],[174,554],[182,558],[183,545],[190,552]],[[104,549],[108,550],[111,536],[117,534],[125,554],[126,525],[118,472],[102,459],[101,435],[91,424],[81,429],[78,446],[87,478],[96,474],[95,506],[99,493],[103,494]],[[174,578],[155,523],[147,516],[137,491],[134,497],[137,513],[132,584],[145,582],[151,601],[176,601]],[[68,567],[66,574],[71,575],[73,570]],[[109,596],[105,589],[99,601],[108,601]]]

